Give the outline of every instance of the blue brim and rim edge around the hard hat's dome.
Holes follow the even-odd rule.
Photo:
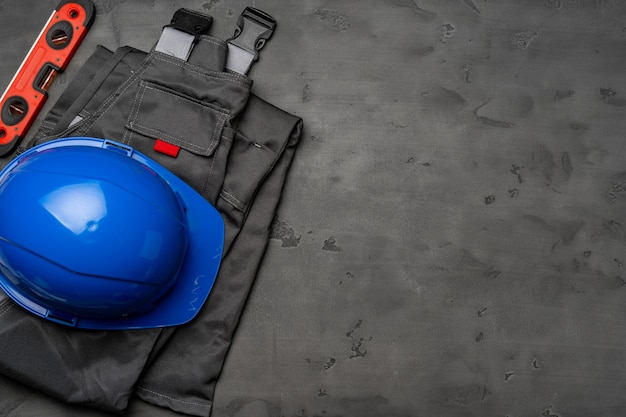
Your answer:
[[[158,174],[178,194],[185,208],[188,247],[176,283],[153,309],[141,315],[115,319],[77,317],[73,323],[63,324],[83,329],[129,330],[179,326],[191,321],[207,300],[219,271],[224,247],[224,221],[220,213],[193,188],[159,163],[131,147],[109,140],[88,137],[58,139],[32,148],[20,156],[65,146],[87,146],[108,148],[112,152],[120,151]],[[10,285],[4,285],[9,280],[1,275],[2,271],[0,287],[14,301],[38,316],[57,321],[49,317],[49,311],[45,307],[20,296]]]

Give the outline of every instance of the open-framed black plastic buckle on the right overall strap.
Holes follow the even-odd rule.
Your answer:
[[[256,61],[259,59],[259,50],[275,28],[276,20],[272,16],[259,9],[246,7],[237,20],[235,34],[228,42],[254,55]]]

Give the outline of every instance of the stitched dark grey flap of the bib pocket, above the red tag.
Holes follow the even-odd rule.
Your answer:
[[[126,127],[197,155],[211,156],[229,113],[150,81],[141,81]]]

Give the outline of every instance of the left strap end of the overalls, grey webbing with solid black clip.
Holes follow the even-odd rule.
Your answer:
[[[200,35],[209,32],[213,18],[189,9],[178,9],[163,28],[155,51],[186,61]]]

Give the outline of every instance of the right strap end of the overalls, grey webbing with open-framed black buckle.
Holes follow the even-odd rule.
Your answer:
[[[276,20],[267,13],[246,7],[237,20],[237,27],[228,40],[226,68],[247,74],[252,63],[259,59],[259,50],[274,33]]]

